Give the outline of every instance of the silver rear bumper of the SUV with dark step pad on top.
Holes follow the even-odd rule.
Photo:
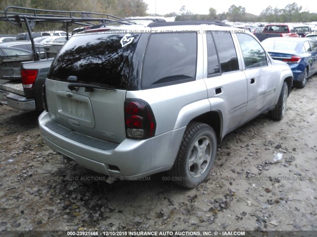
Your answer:
[[[40,132],[50,148],[95,172],[124,179],[169,170],[186,128],[147,140],[125,139],[115,144],[71,131],[57,123],[54,125],[58,129],[54,130],[49,128],[52,123],[55,122],[48,112],[40,115]]]

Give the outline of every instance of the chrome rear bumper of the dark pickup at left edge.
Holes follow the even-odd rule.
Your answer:
[[[35,111],[36,109],[34,99],[27,99],[21,95],[0,90],[0,99],[2,104],[6,104],[14,109],[23,111]]]

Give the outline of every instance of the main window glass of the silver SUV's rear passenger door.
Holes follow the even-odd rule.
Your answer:
[[[219,55],[221,72],[239,70],[237,52],[231,34],[223,31],[212,32],[212,36]]]

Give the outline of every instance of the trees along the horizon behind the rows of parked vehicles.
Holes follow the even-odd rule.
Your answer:
[[[146,16],[148,5],[144,0],[1,0],[0,9],[3,11],[9,5],[23,6],[38,9],[65,10],[65,11],[89,11],[107,13],[117,17]],[[152,15],[162,16],[162,15]],[[286,5],[284,8],[268,6],[259,16],[246,12],[245,7],[231,5],[227,12],[217,13],[210,8],[209,14],[194,14],[183,6],[179,12],[171,12],[163,15],[175,16],[176,21],[183,20],[228,20],[239,22],[312,22],[317,21],[317,13],[302,11],[302,6],[296,2]],[[24,27],[24,26],[23,26]],[[73,25],[70,30],[78,27]],[[62,24],[44,23],[35,25],[33,31],[64,30]],[[17,34],[26,32],[24,28],[0,21],[0,34]]]

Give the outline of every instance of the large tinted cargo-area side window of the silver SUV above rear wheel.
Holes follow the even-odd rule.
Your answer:
[[[144,56],[141,86],[195,80],[196,61],[196,32],[152,34]]]

